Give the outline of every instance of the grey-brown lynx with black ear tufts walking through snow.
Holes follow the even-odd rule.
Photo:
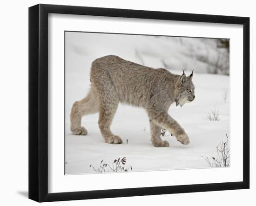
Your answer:
[[[94,60],[91,66],[91,88],[88,95],[74,102],[70,114],[70,129],[75,135],[86,135],[81,118],[99,113],[99,128],[105,142],[121,144],[119,136],[110,130],[119,102],[142,107],[148,113],[151,142],[156,147],[169,146],[161,139],[161,127],[167,129],[184,145],[189,136],[182,126],[168,114],[172,103],[183,106],[195,99],[193,71],[186,76],[170,73],[163,68],[154,69],[118,56],[109,55]]]

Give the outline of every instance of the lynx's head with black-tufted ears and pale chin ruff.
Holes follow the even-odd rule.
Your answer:
[[[177,86],[178,94],[176,97],[176,106],[183,106],[187,102],[191,102],[195,99],[195,86],[192,82],[193,71],[189,76],[186,76],[183,70],[183,74],[179,77]]]

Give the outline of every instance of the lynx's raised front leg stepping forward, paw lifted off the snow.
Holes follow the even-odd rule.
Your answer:
[[[174,134],[175,138],[183,145],[189,144],[189,136],[185,133],[179,123],[167,112],[164,110],[159,111],[151,109],[148,111],[148,116],[156,125],[162,126],[170,133]]]

